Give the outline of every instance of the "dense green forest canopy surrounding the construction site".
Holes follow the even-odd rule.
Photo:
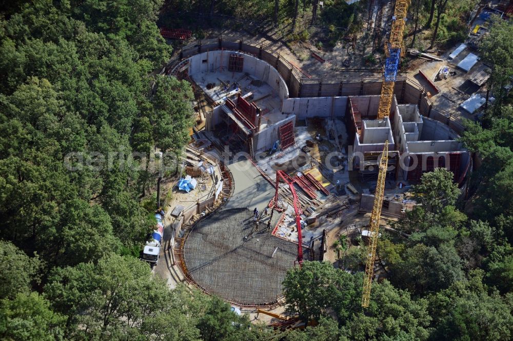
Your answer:
[[[433,20],[435,2],[413,2],[423,25]],[[279,17],[292,18],[298,3],[279,1]],[[482,159],[468,199],[445,169],[422,177],[413,187],[421,205],[393,226],[409,237],[382,230],[378,256],[387,280],[373,284],[368,309],[360,305],[364,247],[345,255],[352,271],[321,262],[288,271],[287,311],[318,325],[284,332],[250,323],[218,297],[185,286],[168,290],[137,260],[154,224],[154,204],[144,199],[157,174],[131,152],[179,153],[193,114],[189,84],[155,76],[171,52],[155,23],[163,5],[166,15],[170,6],[208,12],[212,4],[219,7],[206,1],[2,2],[0,338],[513,338],[513,109],[504,88],[513,75],[510,24],[494,25],[484,41],[483,57],[494,65],[489,86],[499,96],[482,122],[466,123],[461,138]],[[276,8],[275,2],[226,4],[230,13],[245,8],[271,17]],[[313,4],[301,3],[298,12]],[[449,14],[461,6],[454,2],[441,16],[442,34],[444,20],[458,24]],[[325,8],[345,14],[324,11],[321,23],[352,20],[353,7],[345,2],[325,2]],[[112,164],[102,167],[109,153]]]

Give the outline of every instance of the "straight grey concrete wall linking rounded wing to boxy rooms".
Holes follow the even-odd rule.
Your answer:
[[[345,117],[347,97],[287,98],[283,100],[282,112],[292,113],[299,119],[307,117]]]

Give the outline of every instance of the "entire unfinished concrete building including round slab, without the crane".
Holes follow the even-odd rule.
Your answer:
[[[242,161],[226,165],[233,173],[235,193],[225,199],[224,208],[187,231],[183,268],[203,290],[253,306],[277,301],[286,270],[298,260],[301,238],[306,241],[305,259],[316,259],[313,250],[326,247],[316,244],[322,240],[322,228],[303,229],[303,224],[322,227],[329,223],[326,217],[345,219],[348,212],[358,211],[353,209],[360,200],[354,186],[363,186],[350,182],[375,183],[385,141],[386,179],[394,187],[416,183],[436,167],[447,167],[463,184],[471,164],[448,125],[453,123],[429,118],[433,114],[427,96],[407,79],[394,76],[389,115],[378,119],[382,80],[299,79],[294,67],[264,52],[242,41],[219,39],[184,49],[183,58],[167,70],[189,80],[210,103],[204,139],[220,150],[229,146],[250,155],[244,160],[250,168],[242,172],[233,167]],[[322,133],[308,135],[311,124],[318,122]],[[344,135],[348,138],[341,138]],[[322,155],[331,152],[341,155],[336,159],[340,167],[324,165]],[[304,162],[298,162],[301,155]],[[279,211],[257,230],[251,210],[273,205],[272,179],[282,171],[298,192],[294,203],[302,227],[294,221],[289,186],[276,186]],[[349,174],[356,176],[351,180]],[[350,200],[341,199],[344,186],[353,192]]]

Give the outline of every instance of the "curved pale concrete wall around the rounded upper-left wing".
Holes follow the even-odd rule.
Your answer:
[[[232,53],[244,56],[243,72],[269,84],[278,93],[280,99],[288,98],[287,84],[276,69],[261,59],[236,51],[208,51],[193,55],[189,58],[189,74],[194,77],[202,72],[226,71]]]

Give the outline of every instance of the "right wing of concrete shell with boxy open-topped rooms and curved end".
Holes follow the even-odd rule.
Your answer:
[[[392,99],[390,115],[377,119],[380,96],[350,97],[346,115],[353,137],[349,159],[362,180],[375,179],[378,156],[388,141],[387,179],[416,183],[425,172],[446,167],[462,184],[470,167],[470,154],[446,124],[423,117],[415,104],[398,104]]]

